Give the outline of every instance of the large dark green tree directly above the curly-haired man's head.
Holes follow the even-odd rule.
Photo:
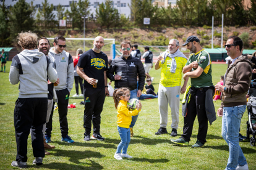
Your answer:
[[[19,0],[13,7],[10,8],[9,18],[9,29],[11,31],[11,38],[15,42],[17,34],[21,31],[33,31],[34,20],[33,10],[35,6],[30,6],[25,0]]]

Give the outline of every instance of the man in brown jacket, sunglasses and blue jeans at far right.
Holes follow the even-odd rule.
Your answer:
[[[239,146],[239,128],[246,109],[246,94],[252,78],[252,62],[242,55],[242,39],[231,36],[225,49],[232,60],[224,77],[224,86],[216,84],[215,89],[222,92],[222,103],[218,116],[222,118],[221,136],[229,146],[229,158],[226,169],[247,170],[248,165]]]

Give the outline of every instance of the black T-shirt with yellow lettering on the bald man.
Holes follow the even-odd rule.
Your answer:
[[[97,53],[92,49],[83,52],[79,58],[77,67],[83,68],[83,72],[89,78],[98,79],[98,84],[95,88],[105,87],[104,71],[108,70],[108,56],[105,53],[102,51]],[[93,85],[87,81],[84,81],[83,86],[93,88]]]

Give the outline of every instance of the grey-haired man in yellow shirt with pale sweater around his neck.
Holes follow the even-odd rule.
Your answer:
[[[179,126],[179,97],[186,91],[187,81],[181,87],[182,68],[187,63],[187,57],[179,51],[179,41],[171,39],[168,50],[158,56],[155,69],[161,69],[161,79],[158,89],[158,103],[160,112],[160,129],[156,135],[167,134],[168,103],[171,107],[171,136],[177,136]],[[180,94],[181,93],[181,94]]]

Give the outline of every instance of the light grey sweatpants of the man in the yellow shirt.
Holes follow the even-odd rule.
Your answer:
[[[159,84],[158,105],[160,112],[160,127],[166,128],[168,122],[168,103],[171,107],[171,128],[179,126],[179,97],[181,86],[164,87]]]

